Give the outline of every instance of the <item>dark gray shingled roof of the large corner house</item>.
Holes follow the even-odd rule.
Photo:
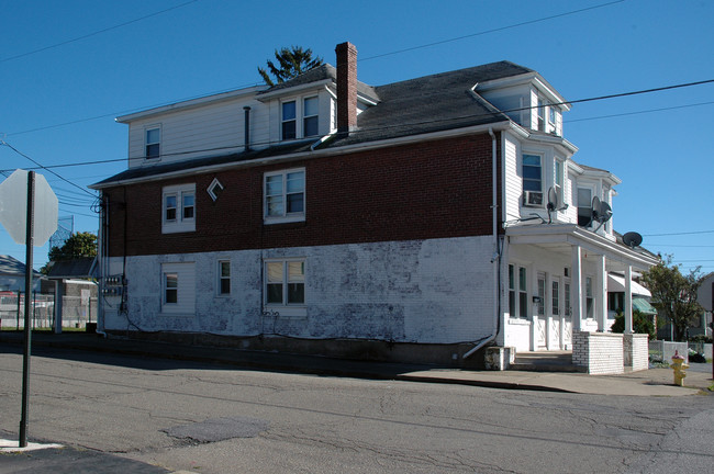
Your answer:
[[[467,69],[440,72],[379,87],[358,82],[358,92],[375,99],[370,106],[357,116],[357,129],[347,136],[335,136],[319,148],[337,148],[346,145],[405,137],[475,125],[507,122],[509,117],[483,100],[471,89],[479,82],[520,76],[532,69],[510,61],[492,63]],[[336,70],[322,65],[294,79],[261,91],[258,95],[282,89],[316,82],[324,79],[336,81]],[[197,158],[186,161],[137,167],[97,183],[114,183],[137,178],[161,176],[215,165],[238,163],[257,158],[308,151],[315,139],[275,145],[261,150],[248,150],[217,157]]]

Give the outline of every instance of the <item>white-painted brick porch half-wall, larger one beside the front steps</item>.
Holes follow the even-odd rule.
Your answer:
[[[618,374],[624,370],[623,335],[572,332],[572,363],[589,374]]]

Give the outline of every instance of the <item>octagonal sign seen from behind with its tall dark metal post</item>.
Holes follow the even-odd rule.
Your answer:
[[[19,196],[26,196],[26,200],[18,202]],[[35,208],[37,210],[36,215]],[[19,445],[26,448],[33,308],[33,247],[44,245],[57,229],[57,196],[42,174],[35,174],[34,171],[15,170],[0,183],[0,223],[16,244],[25,244],[25,343],[22,361],[22,416],[20,418]]]

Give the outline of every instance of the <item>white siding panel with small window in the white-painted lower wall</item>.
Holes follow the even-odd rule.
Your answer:
[[[161,264],[161,313],[196,313],[196,267],[188,263]]]

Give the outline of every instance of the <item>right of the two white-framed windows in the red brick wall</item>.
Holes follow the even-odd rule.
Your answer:
[[[264,216],[266,224],[305,219],[305,170],[265,174]]]

